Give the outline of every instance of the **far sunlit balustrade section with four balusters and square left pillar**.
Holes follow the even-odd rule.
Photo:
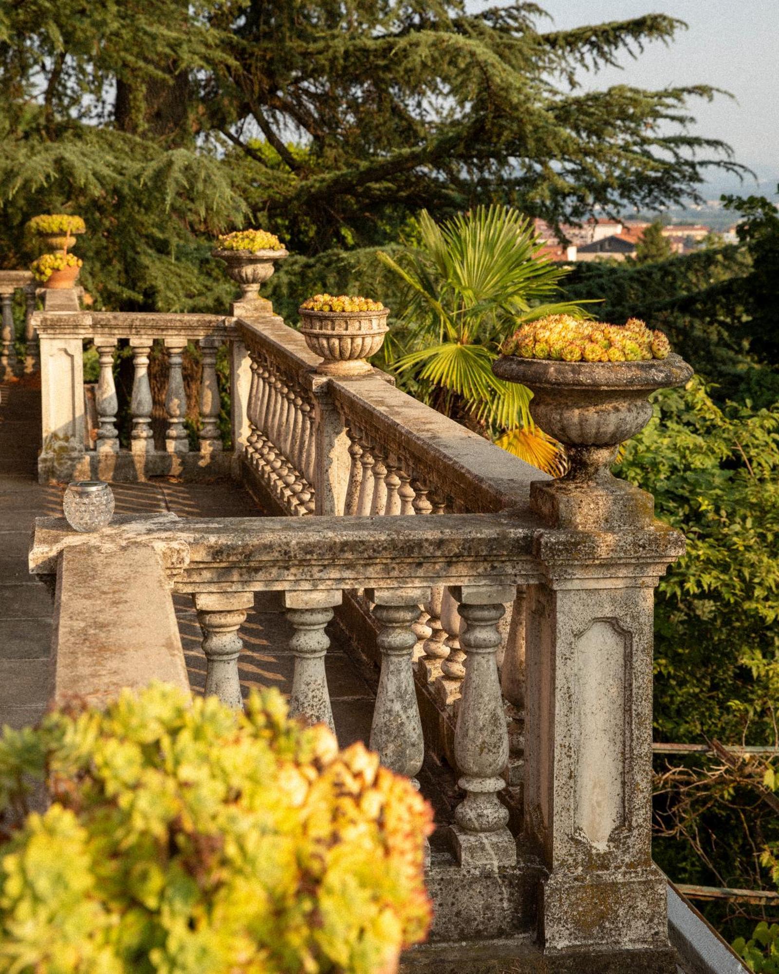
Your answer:
[[[74,290],[45,292],[45,309],[31,316],[41,347],[42,450],[39,478],[142,480],[159,474],[194,477],[230,469],[218,429],[220,409],[216,354],[228,341],[231,319],[217,315],[164,315],[79,311]],[[132,349],[130,449],[123,448],[116,427],[118,400],[114,356],[125,339]],[[83,346],[93,341],[99,357],[94,396],[97,431],[94,447],[86,434]],[[154,342],[167,349],[169,378],[164,403],[165,446],[152,436],[155,403],[149,383],[149,355]],[[200,345],[203,375],[200,392],[199,449],[190,451],[184,427],[187,413],[182,354],[189,342]],[[238,367],[240,367],[240,362]]]

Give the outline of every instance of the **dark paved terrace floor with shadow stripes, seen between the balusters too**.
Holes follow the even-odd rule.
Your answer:
[[[0,384],[0,727],[34,724],[44,712],[53,677],[52,599],[47,587],[27,572],[27,550],[35,517],[59,516],[62,488],[37,482],[40,444],[39,377]],[[172,511],[181,517],[251,517],[263,511],[232,480],[184,484],[159,478],[147,483],[112,484],[116,512]],[[99,586],[99,580],[95,580]],[[202,693],[205,657],[201,629],[190,596],[174,596],[190,684]],[[336,624],[326,657],[327,681],[342,747],[367,742],[378,670],[345,638]],[[241,626],[245,647],[240,673],[244,695],[252,687],[278,687],[288,695],[293,657],[291,626],[276,597],[258,593],[255,608]],[[430,760],[420,774],[437,822],[451,821],[458,801],[449,774]],[[434,843],[437,844],[437,843]]]

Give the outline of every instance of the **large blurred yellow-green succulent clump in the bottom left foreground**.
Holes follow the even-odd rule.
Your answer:
[[[280,694],[236,713],[164,685],[0,740],[0,968],[369,974],[427,931],[431,813]]]

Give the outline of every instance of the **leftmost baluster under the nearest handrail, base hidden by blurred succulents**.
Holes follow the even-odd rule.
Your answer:
[[[196,592],[193,595],[198,621],[203,629],[205,695],[218,696],[228,706],[241,710],[241,679],[238,658],[243,643],[239,629],[254,605],[253,592]]]

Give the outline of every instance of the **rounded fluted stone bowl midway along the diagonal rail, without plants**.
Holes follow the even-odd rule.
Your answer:
[[[300,308],[300,331],[311,351],[324,360],[322,375],[365,375],[389,331],[389,308],[381,311],[313,311]]]

